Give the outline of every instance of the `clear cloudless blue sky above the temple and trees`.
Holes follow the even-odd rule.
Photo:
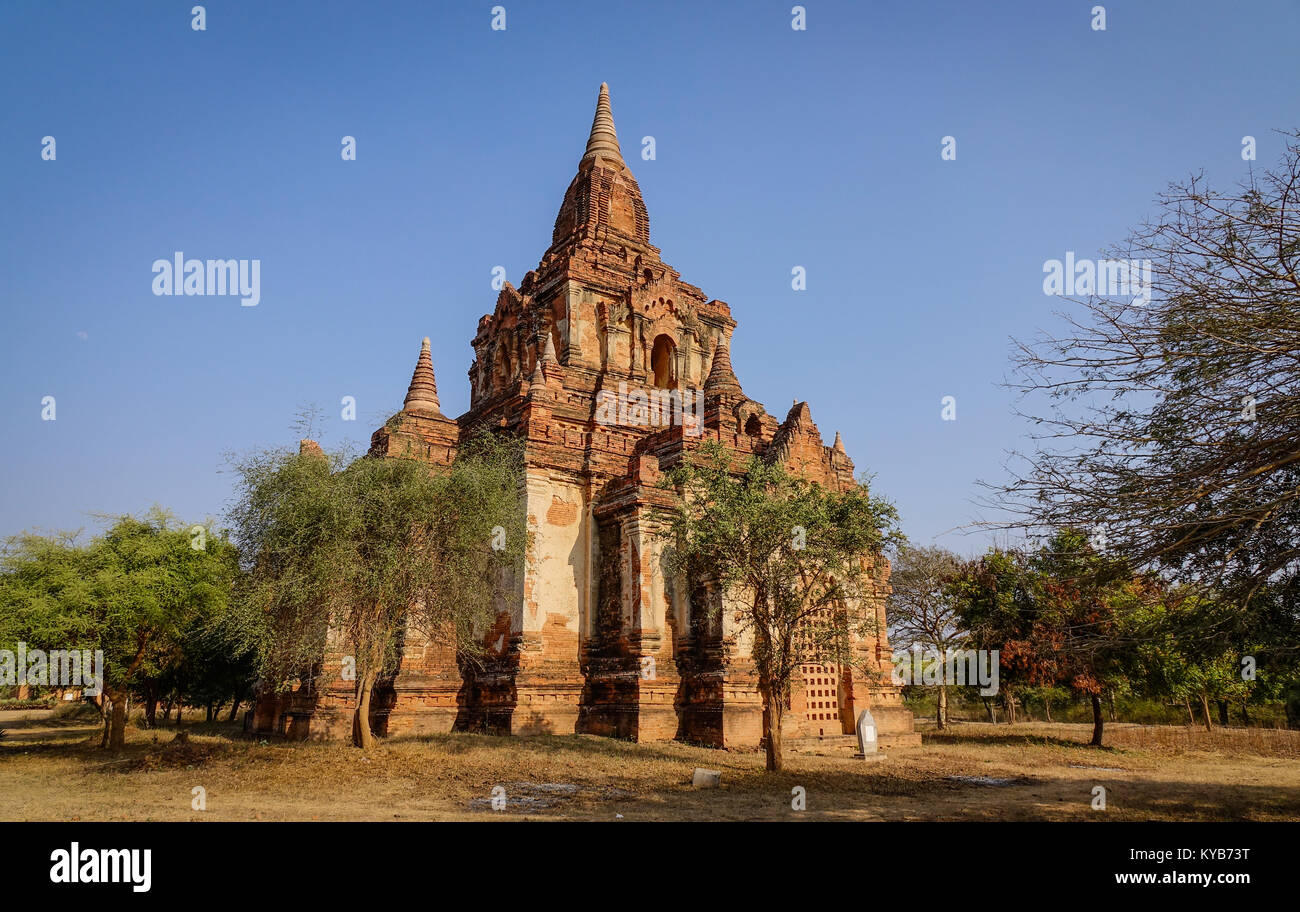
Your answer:
[[[504,31],[489,0],[192,5],[0,0],[0,534],[218,517],[222,452],[296,443],[312,403],[368,440],[425,335],[462,413],[493,266],[536,268],[608,82],[746,394],[809,400],[913,540],[974,553],[950,530],[1023,444],[998,383],[1061,305],[1044,261],[1300,123],[1295,0],[1105,3],[1105,31],[1065,0],[810,0],[803,31],[788,0],[500,0]],[[176,251],[260,260],[260,304],[155,296]]]

